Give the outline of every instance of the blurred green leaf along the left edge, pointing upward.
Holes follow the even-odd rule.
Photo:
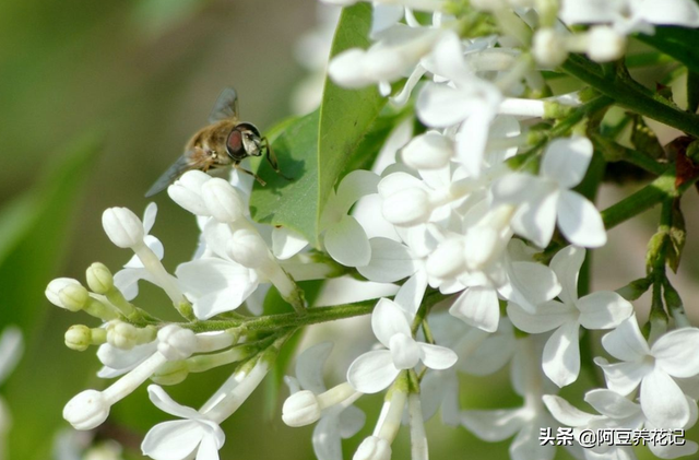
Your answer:
[[[44,290],[68,249],[70,224],[98,151],[94,135],[76,142],[59,164],[47,168],[49,174],[37,187],[2,212],[0,329],[9,323],[20,326],[29,344],[4,391],[13,416],[12,458],[49,458],[52,434],[71,387],[93,370],[76,365],[78,354],[64,359],[60,338],[47,333],[54,330],[49,325],[56,326],[54,316],[62,319],[68,315],[49,306]]]

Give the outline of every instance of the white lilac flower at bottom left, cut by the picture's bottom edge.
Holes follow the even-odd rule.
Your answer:
[[[183,418],[155,425],[145,435],[141,450],[155,460],[218,459],[226,435],[206,414],[175,402],[161,387],[151,385],[149,397],[161,411]]]

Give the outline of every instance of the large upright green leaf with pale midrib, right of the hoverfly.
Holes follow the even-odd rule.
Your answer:
[[[370,26],[369,4],[345,8],[330,57],[354,47],[366,48]],[[344,90],[325,79],[320,108],[277,128],[282,132],[272,139],[272,149],[280,169],[293,180],[275,175],[262,163],[260,175],[268,185],[254,185],[252,219],[292,228],[319,247],[320,214],[328,196],[384,104],[386,98],[374,86]]]

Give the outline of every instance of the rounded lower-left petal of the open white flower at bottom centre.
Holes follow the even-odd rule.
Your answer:
[[[391,352],[376,350],[356,358],[347,369],[347,381],[363,393],[378,393],[388,388],[400,374],[393,365]]]

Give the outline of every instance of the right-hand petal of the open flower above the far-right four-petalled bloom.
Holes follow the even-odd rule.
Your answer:
[[[612,329],[633,312],[633,306],[619,294],[599,291],[580,298],[580,325],[585,329]]]

